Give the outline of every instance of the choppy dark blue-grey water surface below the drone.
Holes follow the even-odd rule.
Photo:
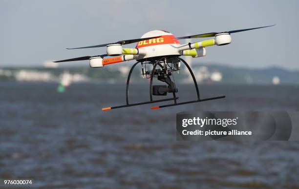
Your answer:
[[[299,188],[298,142],[181,142],[175,135],[179,111],[298,111],[299,87],[200,85],[202,97],[227,98],[103,112],[125,103],[125,85],[74,84],[65,93],[56,86],[0,84],[0,178],[33,178],[41,189]],[[192,85],[179,92],[181,101],[195,98]],[[130,95],[148,101],[148,85],[132,86]]]

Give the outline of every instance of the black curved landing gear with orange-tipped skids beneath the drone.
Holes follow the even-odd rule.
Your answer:
[[[162,82],[165,82],[168,84],[168,86],[170,87],[172,95],[173,95],[173,98],[168,98],[168,99],[161,99],[161,100],[152,100],[152,82],[153,82],[153,78],[156,76],[157,77],[157,73],[156,73],[156,66],[159,65],[161,67],[161,69],[165,69],[167,70],[167,66],[168,66],[168,63],[166,63],[166,59],[169,58],[169,57],[162,57],[161,59],[159,59],[158,61],[156,61],[155,63],[152,63],[153,64],[153,69],[150,73],[150,84],[149,84],[149,97],[150,97],[150,101],[148,102],[142,102],[142,103],[134,103],[134,104],[129,104],[129,101],[128,101],[128,88],[129,88],[129,83],[130,83],[130,78],[131,78],[131,74],[132,74],[132,71],[134,69],[134,67],[140,63],[140,62],[137,62],[135,63],[130,71],[129,71],[129,74],[128,74],[128,79],[127,79],[127,87],[126,87],[126,102],[127,104],[126,105],[119,105],[119,106],[112,106],[112,107],[104,107],[102,108],[102,110],[110,110],[110,109],[116,109],[116,108],[122,108],[122,107],[129,107],[129,106],[135,106],[135,105],[146,105],[146,104],[152,104],[152,103],[159,103],[159,102],[165,102],[165,101],[174,101],[173,104],[170,104],[170,105],[158,105],[158,106],[153,106],[151,107],[151,109],[158,109],[158,108],[162,108],[162,107],[169,107],[169,106],[174,106],[174,105],[185,105],[185,104],[191,104],[191,103],[198,103],[198,102],[203,102],[203,101],[210,101],[210,100],[215,100],[215,99],[221,99],[221,98],[225,98],[225,96],[219,96],[219,97],[213,97],[213,98],[206,98],[206,99],[200,99],[200,96],[199,96],[199,90],[198,90],[198,86],[197,86],[197,82],[196,82],[196,79],[194,77],[194,74],[190,68],[190,66],[188,65],[188,63],[186,63],[183,59],[179,58],[179,57],[172,57],[172,59],[177,59],[177,60],[180,60],[181,62],[183,62],[185,64],[185,66],[188,68],[191,76],[192,76],[192,79],[193,79],[193,82],[194,82],[194,85],[195,85],[195,89],[196,89],[196,95],[197,95],[197,100],[194,100],[194,101],[187,101],[187,102],[182,102],[182,103],[177,103],[176,100],[178,99],[178,97],[175,96],[175,92],[177,92],[176,88],[175,88],[175,84],[173,82],[171,82],[171,78],[170,78],[170,74],[166,73],[165,76],[166,78],[161,80],[158,78],[158,80],[162,81]],[[164,66],[161,64],[161,62],[163,62],[163,60],[165,60],[165,63],[164,63]],[[171,67],[172,69],[172,67]]]

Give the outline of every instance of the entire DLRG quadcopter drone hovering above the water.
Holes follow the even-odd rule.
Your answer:
[[[275,24],[274,24],[275,25]],[[231,30],[228,32],[212,32],[197,34],[192,36],[184,36],[176,38],[173,34],[164,30],[153,30],[145,33],[140,39],[124,40],[112,43],[98,44],[93,46],[77,47],[77,48],[67,48],[67,49],[82,49],[82,48],[95,48],[95,47],[107,47],[107,54],[96,55],[96,56],[85,56],[73,59],[67,59],[62,61],[55,61],[55,63],[60,62],[70,62],[70,61],[83,61],[89,60],[89,65],[91,68],[103,67],[108,64],[126,62],[131,60],[136,60],[128,73],[127,86],[126,86],[126,104],[112,107],[104,107],[102,110],[110,110],[116,108],[123,108],[135,105],[145,105],[152,103],[160,103],[164,101],[173,101],[172,104],[168,105],[158,105],[152,106],[151,109],[184,105],[190,103],[197,103],[203,101],[210,101],[216,99],[225,98],[225,96],[217,96],[213,98],[201,99],[199,95],[198,85],[196,83],[195,76],[192,72],[191,67],[188,65],[181,56],[191,56],[192,58],[206,56],[206,47],[217,45],[227,45],[232,42],[231,34],[237,32],[243,32],[248,30],[254,30],[259,28],[271,27],[274,25]],[[178,40],[181,39],[192,39],[192,38],[211,38],[209,40],[204,40],[201,42],[189,42],[186,44],[180,44]],[[123,48],[123,45],[135,43],[137,45],[135,48]],[[110,56],[110,58],[105,58]],[[184,63],[188,71],[192,76],[192,80],[195,85],[197,99],[187,102],[177,102],[178,98],[176,93],[178,89],[175,85],[173,74],[178,73],[180,70],[180,64]],[[129,103],[128,89],[132,71],[134,67],[140,63],[142,65],[141,73],[143,77],[150,80],[149,82],[149,101],[141,103]],[[147,65],[152,65],[152,69],[147,69]],[[149,67],[149,66],[148,66]],[[150,66],[151,67],[151,66]],[[172,80],[171,80],[172,76]],[[165,83],[164,85],[153,85],[153,79],[156,78],[158,81]],[[166,96],[168,93],[172,93],[172,98],[153,100],[153,96]]]

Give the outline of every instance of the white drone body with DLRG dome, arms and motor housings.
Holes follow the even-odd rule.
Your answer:
[[[157,37],[159,36],[159,37]],[[155,38],[157,37],[157,38]],[[215,36],[215,39],[209,40],[210,43],[195,42],[191,44],[180,44],[176,37],[170,32],[163,30],[153,30],[141,36],[143,38],[152,38],[140,41],[136,48],[122,48],[121,44],[107,45],[108,56],[119,56],[125,54],[124,57],[118,59],[112,58],[111,61],[105,61],[102,57],[93,57],[90,59],[90,67],[103,67],[108,62],[116,63],[129,60],[147,61],[162,56],[192,56],[193,58],[206,56],[205,46],[224,45],[232,42],[229,33],[221,33]],[[198,44],[198,45],[197,45]],[[190,51],[194,49],[193,51]],[[127,54],[128,53],[128,54]],[[132,56],[133,55],[133,56]],[[101,63],[103,62],[103,64]]]

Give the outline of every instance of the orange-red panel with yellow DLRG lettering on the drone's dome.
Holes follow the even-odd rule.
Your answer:
[[[141,41],[141,42],[137,43],[136,48],[152,46],[152,45],[157,45],[157,44],[172,44],[172,43],[179,44],[180,42],[174,38],[175,38],[174,35],[165,35],[165,36],[161,36],[159,38]]]

